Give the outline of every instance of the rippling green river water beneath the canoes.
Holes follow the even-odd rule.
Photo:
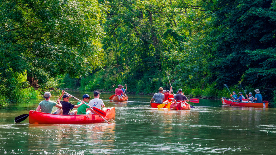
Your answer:
[[[81,98],[87,92],[69,93]],[[129,102],[114,103],[111,95],[100,98],[106,107],[115,106],[112,124],[14,123],[40,100],[0,109],[0,154],[275,154],[276,108],[200,100],[190,111],[157,110],[147,108],[152,96],[129,95]]]

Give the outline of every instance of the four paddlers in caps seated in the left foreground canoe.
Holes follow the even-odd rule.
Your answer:
[[[107,108],[105,108],[103,100],[99,99],[99,96],[100,96],[99,94],[101,94],[101,93],[98,91],[94,91],[94,93],[93,93],[94,99],[92,99],[90,102],[89,102],[89,99],[91,98],[91,96],[89,96],[88,94],[84,94],[83,100],[81,102],[78,102],[77,105],[74,105],[69,102],[69,98],[71,98],[72,96],[65,94],[64,90],[62,90],[62,95],[57,99],[57,103],[50,100],[50,98],[51,98],[50,92],[45,92],[44,96],[43,96],[43,98],[45,98],[45,100],[43,100],[39,103],[36,111],[41,111],[43,113],[52,113],[52,109],[55,106],[58,109],[55,112],[53,112],[53,114],[57,114],[57,115],[96,114],[93,111],[92,107],[100,109],[101,106],[103,106],[104,107],[103,111],[107,110]],[[61,98],[63,101],[61,101]],[[88,104],[89,106],[87,106],[84,103]],[[73,110],[70,112],[70,110],[72,110],[73,108],[77,108],[77,110]]]

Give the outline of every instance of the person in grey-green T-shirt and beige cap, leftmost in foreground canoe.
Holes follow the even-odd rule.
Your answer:
[[[51,93],[50,92],[45,92],[43,98],[45,98],[45,100],[41,101],[38,106],[37,106],[37,110],[36,111],[40,111],[43,113],[52,113],[53,110],[53,106],[57,107],[58,109],[53,112],[53,114],[57,114],[57,115],[62,115],[62,104],[60,103],[60,100],[57,100],[56,102],[53,102],[50,100],[51,98]]]

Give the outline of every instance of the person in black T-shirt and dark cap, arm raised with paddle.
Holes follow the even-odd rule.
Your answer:
[[[69,113],[69,111],[73,108],[78,108],[80,107],[84,102],[82,101],[80,104],[78,105],[74,105],[71,104],[69,102],[69,98],[71,98],[72,96],[69,96],[68,94],[64,94],[65,90],[62,90],[62,95],[58,98],[59,100],[63,99],[63,101],[60,101],[60,103],[62,104],[62,115],[77,115],[78,111],[77,110],[73,110]]]

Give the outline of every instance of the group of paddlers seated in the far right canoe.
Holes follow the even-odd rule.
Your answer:
[[[252,92],[250,92],[248,95],[246,94],[246,99],[248,103],[253,103],[255,101],[255,103],[261,103],[263,102],[262,100],[262,95],[260,94],[260,90],[256,89],[254,90],[256,92],[255,97],[252,96]],[[236,95],[236,92],[233,91],[232,92],[233,95],[230,95],[231,99],[233,101],[239,101],[242,102],[242,99],[245,99],[244,95],[242,92],[239,92],[239,97]]]

